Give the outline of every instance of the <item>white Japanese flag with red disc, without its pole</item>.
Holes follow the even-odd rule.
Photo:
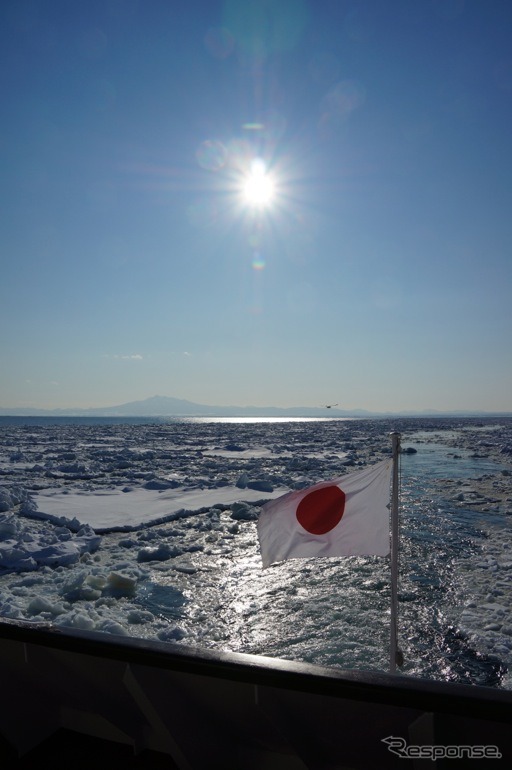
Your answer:
[[[258,519],[263,567],[284,559],[387,556],[393,460],[288,492]]]

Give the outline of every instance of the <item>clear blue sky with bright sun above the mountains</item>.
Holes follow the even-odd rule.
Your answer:
[[[0,407],[512,411],[509,0],[3,0]]]

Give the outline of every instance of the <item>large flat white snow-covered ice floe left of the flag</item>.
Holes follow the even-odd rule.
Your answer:
[[[48,489],[33,497],[38,517],[76,518],[96,532],[118,527],[130,529],[165,519],[180,510],[196,511],[216,504],[258,502],[288,492],[282,487],[273,492],[238,487],[219,489],[120,489],[96,492],[63,493],[61,488]]]

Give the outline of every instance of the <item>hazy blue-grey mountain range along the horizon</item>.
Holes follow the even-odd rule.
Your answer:
[[[130,401],[118,406],[94,409],[2,409],[0,416],[7,417],[482,417],[494,416],[490,412],[440,412],[433,409],[422,412],[369,412],[366,409],[337,409],[326,407],[278,407],[278,406],[211,406],[196,404],[171,396],[151,396],[142,401]],[[503,415],[503,413],[500,413]],[[510,413],[506,413],[510,416]]]

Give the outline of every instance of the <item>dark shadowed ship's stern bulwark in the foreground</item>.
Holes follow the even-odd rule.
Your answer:
[[[388,749],[389,736],[512,758],[512,693],[486,687],[14,621],[0,623],[0,670],[2,768],[415,766]]]

